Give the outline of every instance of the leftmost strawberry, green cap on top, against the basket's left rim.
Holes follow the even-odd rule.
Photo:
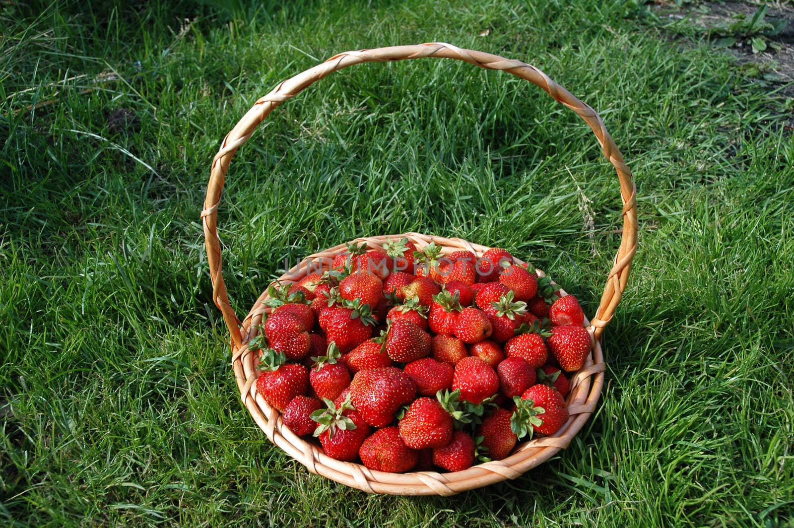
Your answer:
[[[262,350],[256,391],[270,405],[283,412],[295,396],[306,394],[309,374],[306,367],[287,363],[287,356],[273,349]]]

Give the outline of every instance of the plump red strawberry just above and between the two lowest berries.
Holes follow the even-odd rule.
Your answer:
[[[415,399],[397,426],[411,449],[441,447],[452,439],[452,416],[433,398]]]

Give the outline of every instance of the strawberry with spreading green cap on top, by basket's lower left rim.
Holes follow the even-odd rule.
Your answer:
[[[311,419],[318,422],[314,436],[320,439],[323,451],[337,461],[352,462],[358,457],[358,450],[369,436],[370,427],[364,418],[349,405],[349,401],[336,407],[329,399],[326,409],[315,410]]]

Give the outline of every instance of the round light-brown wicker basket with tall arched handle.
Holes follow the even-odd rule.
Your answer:
[[[256,299],[249,314],[241,322],[229,304],[225,283],[222,276],[221,245],[218,241],[217,222],[218,204],[232,156],[245,141],[249,140],[256,126],[268,114],[287,99],[299,94],[311,83],[322,79],[333,71],[344,67],[364,62],[385,62],[388,60],[418,59],[422,57],[437,57],[464,60],[476,66],[504,70],[513,75],[537,84],[547,91],[557,102],[569,107],[579,114],[590,126],[603,148],[607,160],[615,166],[620,179],[620,194],[623,203],[623,229],[620,247],[615,256],[615,264],[607,276],[607,285],[604,288],[601,302],[592,321],[585,320],[593,337],[593,349],[584,367],[572,376],[571,392],[567,403],[571,418],[557,432],[550,437],[538,437],[526,441],[515,449],[510,457],[502,461],[491,461],[479,464],[461,472],[410,472],[386,473],[372,471],[361,464],[341,462],[327,457],[322,449],[310,441],[305,441],[296,436],[287,427],[283,426],[279,411],[269,407],[260,395],[256,394],[257,372],[254,368],[255,354],[247,346],[249,340],[256,335],[256,326],[260,324],[263,314],[269,312],[263,301],[267,299],[266,293]],[[518,60],[508,60],[500,56],[468,49],[456,48],[450,44],[419,44],[414,46],[395,46],[391,48],[377,48],[357,52],[345,52],[331,57],[322,64],[295,75],[280,83],[270,94],[260,98],[251,110],[237,123],[223,140],[222,147],[212,162],[210,183],[207,187],[206,201],[202,210],[204,234],[206,237],[207,259],[210,264],[210,276],[213,283],[213,298],[215,304],[222,311],[226,326],[231,334],[232,366],[237,386],[240,389],[241,399],[245,407],[260,428],[268,435],[270,440],[281,449],[289,453],[295,460],[304,464],[310,472],[326,476],[353,488],[358,488],[370,493],[388,493],[394,495],[453,495],[461,491],[480,488],[494,484],[501,480],[515,479],[524,472],[552,457],[561,449],[565,449],[584,426],[598,402],[603,386],[603,353],[601,349],[601,336],[603,329],[610,321],[615,308],[620,302],[622,292],[626,287],[631,260],[637,249],[637,206],[635,202],[636,187],[634,179],[622,156],[612,141],[609,133],[603,126],[599,115],[592,108],[549,79],[542,71],[529,64]],[[457,238],[443,238],[423,235],[419,233],[403,233],[391,235],[407,237],[414,241],[418,249],[422,249],[431,241],[441,245],[443,252],[449,253],[457,249],[468,249],[476,256],[482,256],[488,247],[472,244]],[[380,247],[387,236],[360,238],[358,241],[366,242],[370,248]],[[345,245],[337,245],[322,252],[306,257],[280,277],[279,280],[295,282],[305,276],[309,264],[313,267],[325,263],[330,266],[330,261],[338,252],[345,251]],[[520,261],[518,261],[520,263]]]

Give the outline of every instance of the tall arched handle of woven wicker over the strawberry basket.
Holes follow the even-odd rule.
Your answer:
[[[204,237],[206,238],[206,255],[210,264],[210,279],[212,279],[213,299],[215,305],[221,310],[226,326],[232,337],[233,349],[242,345],[240,319],[229,304],[229,295],[222,275],[221,244],[218,241],[218,204],[225,181],[229,162],[232,160],[237,148],[248,141],[251,134],[264,118],[287,99],[294,97],[310,84],[326,77],[333,71],[365,62],[387,62],[390,60],[420,59],[422,57],[436,57],[445,59],[458,59],[474,64],[475,66],[491,70],[504,70],[522,79],[537,84],[548,92],[557,102],[567,106],[579,114],[580,118],[590,126],[596,139],[598,139],[603,155],[615,166],[620,180],[620,198],[623,203],[623,229],[620,246],[615,255],[614,264],[607,275],[607,285],[603,289],[601,302],[595,316],[592,318],[592,332],[595,339],[600,339],[603,329],[610,322],[615,308],[620,303],[623,291],[626,289],[626,280],[629,277],[631,260],[637,250],[637,187],[634,178],[626,163],[623,161],[615,141],[604,128],[603,121],[595,110],[574,97],[569,91],[549,79],[542,71],[520,60],[509,60],[490,53],[476,52],[470,49],[457,48],[451,44],[428,43],[412,46],[392,46],[389,48],[365,49],[357,52],[344,52],[331,57],[317,66],[299,73],[291,79],[280,83],[273,91],[257,100],[237,125],[226,134],[218,154],[212,160],[210,183],[206,188],[206,199],[201,216],[204,224]]]

